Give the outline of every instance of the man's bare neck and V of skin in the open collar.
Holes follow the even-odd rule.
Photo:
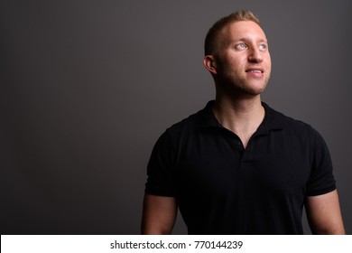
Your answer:
[[[218,122],[234,132],[244,146],[262,123],[265,115],[260,95],[241,99],[217,96],[213,110]]]

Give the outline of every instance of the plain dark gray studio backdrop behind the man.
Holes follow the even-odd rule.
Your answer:
[[[1,233],[138,234],[153,145],[214,98],[203,40],[239,9],[270,42],[264,101],[329,145],[351,233],[349,0],[2,0]]]

